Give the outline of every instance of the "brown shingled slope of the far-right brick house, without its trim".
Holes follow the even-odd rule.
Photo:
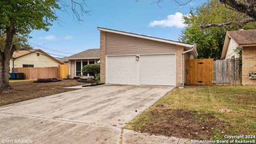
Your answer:
[[[227,34],[239,46],[256,44],[256,29],[228,31]]]

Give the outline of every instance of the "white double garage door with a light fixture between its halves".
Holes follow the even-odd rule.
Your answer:
[[[175,86],[175,54],[107,57],[108,84]],[[136,83],[137,82],[137,83]]]

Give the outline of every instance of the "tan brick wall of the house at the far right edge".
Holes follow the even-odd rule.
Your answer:
[[[248,78],[248,71],[256,71],[256,46],[242,48],[242,85],[256,86],[256,79]]]

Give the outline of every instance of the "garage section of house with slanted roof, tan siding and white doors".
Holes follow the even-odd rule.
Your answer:
[[[100,81],[106,84],[184,86],[186,60],[198,56],[195,44],[98,30]]]

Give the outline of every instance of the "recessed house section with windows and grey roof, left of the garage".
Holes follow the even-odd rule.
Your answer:
[[[69,74],[71,78],[82,75],[83,78],[89,78],[93,75],[83,74],[82,68],[87,64],[99,64],[100,49],[88,49],[78,54],[65,58],[69,61]]]

